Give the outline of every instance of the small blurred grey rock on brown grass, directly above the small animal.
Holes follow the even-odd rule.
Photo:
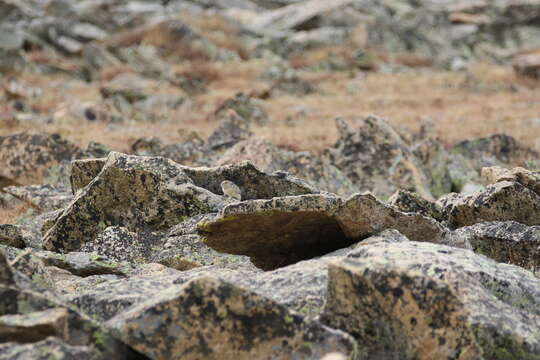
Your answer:
[[[227,118],[230,116],[230,110],[233,110],[246,124],[265,125],[269,121],[261,101],[242,93],[227,99],[216,109],[214,115],[218,119]]]

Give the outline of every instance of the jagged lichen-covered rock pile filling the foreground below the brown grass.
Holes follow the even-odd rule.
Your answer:
[[[34,210],[0,225],[0,359],[534,359],[540,173],[476,169],[537,155],[503,136],[445,150],[356,121],[338,120],[339,141],[321,153],[239,139],[215,167],[81,159],[58,138],[4,137],[46,155],[10,162],[15,184],[29,166],[72,161],[56,185],[3,189]],[[460,162],[478,190],[440,197],[427,153]],[[319,181],[228,164],[251,156]],[[333,174],[355,193],[328,192]]]

